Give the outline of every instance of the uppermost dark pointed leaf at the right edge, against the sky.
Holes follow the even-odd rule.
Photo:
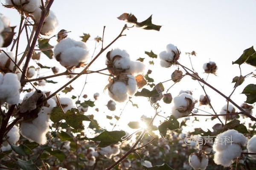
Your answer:
[[[253,46],[244,50],[244,53],[232,64],[243,64],[244,62],[256,66],[256,51],[253,49]]]

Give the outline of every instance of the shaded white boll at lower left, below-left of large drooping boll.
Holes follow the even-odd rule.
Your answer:
[[[8,147],[10,144],[16,144],[20,139],[20,132],[19,127],[14,125],[12,129],[6,134],[6,140],[3,142],[4,147]]]

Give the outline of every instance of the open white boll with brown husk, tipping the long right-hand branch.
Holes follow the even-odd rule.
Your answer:
[[[162,67],[171,67],[180,58],[180,51],[175,45],[166,45],[166,51],[162,51],[159,54],[160,65]]]

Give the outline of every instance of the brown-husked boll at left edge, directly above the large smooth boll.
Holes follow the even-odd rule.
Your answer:
[[[13,52],[6,52],[8,56],[15,61],[15,55]],[[4,52],[0,54],[0,70],[7,71],[7,72],[12,72],[13,67],[15,64],[12,62],[11,59],[6,55]]]

